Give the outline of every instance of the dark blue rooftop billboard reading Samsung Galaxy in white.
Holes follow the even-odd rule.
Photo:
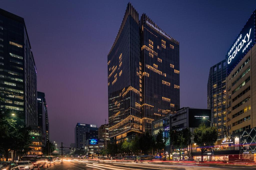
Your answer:
[[[227,51],[227,75],[255,44],[255,11]]]

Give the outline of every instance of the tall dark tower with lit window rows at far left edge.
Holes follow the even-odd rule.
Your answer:
[[[1,114],[37,126],[37,73],[24,19],[0,9]]]

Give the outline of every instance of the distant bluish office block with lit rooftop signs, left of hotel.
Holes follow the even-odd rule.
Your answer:
[[[77,123],[75,127],[75,145],[76,149],[85,148],[86,140],[95,139],[98,142],[97,125]]]

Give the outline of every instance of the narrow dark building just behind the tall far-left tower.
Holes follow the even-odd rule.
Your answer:
[[[45,100],[45,93],[37,92],[37,120],[38,126],[42,128],[43,146],[49,141],[49,120],[47,105]]]

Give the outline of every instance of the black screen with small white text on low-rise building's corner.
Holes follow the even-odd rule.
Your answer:
[[[188,126],[198,127],[201,123],[211,126],[210,109],[188,109]]]

